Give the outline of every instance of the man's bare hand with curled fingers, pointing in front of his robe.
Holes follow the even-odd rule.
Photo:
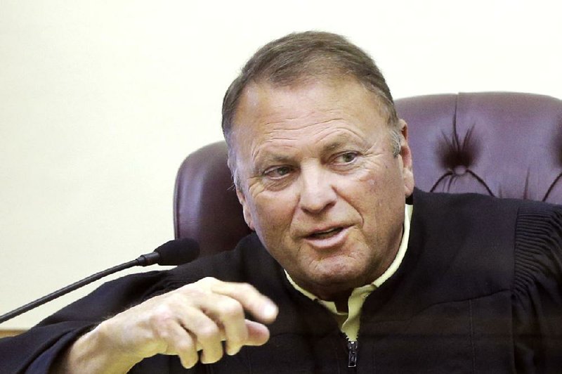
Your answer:
[[[257,321],[244,318],[248,311]],[[74,343],[65,370],[124,373],[146,357],[175,354],[185,368],[213,363],[236,354],[244,345],[268,341],[277,306],[254,287],[204,278],[138,304]],[[198,354],[198,351],[202,351]]]

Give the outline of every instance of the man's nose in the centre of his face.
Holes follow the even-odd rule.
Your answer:
[[[336,202],[334,181],[327,170],[320,166],[301,169],[299,205],[305,212],[318,214]]]

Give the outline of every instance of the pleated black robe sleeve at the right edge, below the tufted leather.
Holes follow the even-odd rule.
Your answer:
[[[518,373],[562,370],[562,207],[521,207],[513,293]]]

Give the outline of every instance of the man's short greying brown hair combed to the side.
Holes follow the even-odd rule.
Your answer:
[[[381,101],[391,129],[395,157],[400,153],[400,129],[394,101],[386,81],[372,58],[346,38],[329,32],[299,32],[271,41],[252,56],[226,91],[223,99],[223,135],[228,146],[228,166],[238,182],[233,140],[234,117],[244,89],[251,82],[273,86],[304,84],[312,79],[349,76],[358,80]]]

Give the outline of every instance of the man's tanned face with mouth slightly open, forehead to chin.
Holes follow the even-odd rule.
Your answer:
[[[379,99],[358,82],[245,89],[233,144],[247,224],[292,278],[322,299],[371,283],[394,259],[413,190]]]

